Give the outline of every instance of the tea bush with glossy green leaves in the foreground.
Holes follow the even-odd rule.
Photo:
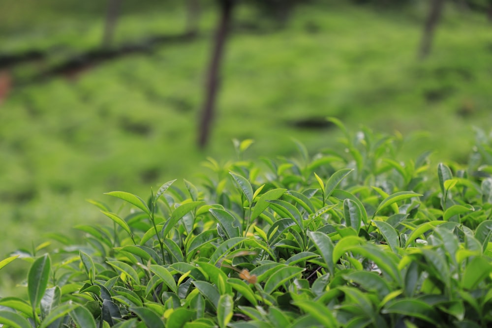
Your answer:
[[[79,225],[0,262],[31,263],[3,327],[492,325],[492,147],[467,166],[395,160],[401,140],[344,130],[344,153],[209,159],[203,186],[122,191],[108,226]],[[123,207],[124,205],[124,207]],[[18,261],[18,260],[17,260]]]

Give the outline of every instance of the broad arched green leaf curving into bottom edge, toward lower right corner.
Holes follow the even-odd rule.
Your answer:
[[[382,313],[398,313],[415,317],[439,326],[439,316],[435,309],[424,301],[418,299],[400,299],[391,302],[381,310]]]

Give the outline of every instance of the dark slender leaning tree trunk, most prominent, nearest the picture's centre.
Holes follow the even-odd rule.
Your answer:
[[[207,145],[210,135],[210,125],[214,118],[215,100],[217,97],[217,91],[219,87],[219,74],[220,64],[224,53],[224,44],[229,32],[232,9],[234,7],[234,0],[219,0],[220,4],[220,19],[215,32],[214,48],[212,51],[212,59],[209,64],[209,70],[207,74],[207,81],[205,86],[205,102],[203,104],[199,135],[198,146],[204,148]]]

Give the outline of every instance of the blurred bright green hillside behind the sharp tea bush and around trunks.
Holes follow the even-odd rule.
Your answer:
[[[13,69],[14,79],[29,81],[42,65],[99,45],[104,5],[79,2],[0,3],[2,52],[58,49],[48,63]],[[184,30],[183,6],[126,5],[117,44]],[[103,219],[86,198],[109,202],[103,192],[147,194],[169,179],[198,181],[206,156],[234,156],[232,138],[256,140],[249,156],[290,154],[291,137],[311,151],[332,147],[336,129],[298,126],[326,116],[353,129],[424,135],[403,156],[432,149],[435,161],[463,161],[471,126],[489,129],[492,119],[492,27],[485,15],[449,4],[431,57],[419,62],[425,9],[420,2],[398,11],[329,1],[299,7],[277,30],[239,8],[205,151],[195,148],[195,129],[211,8],[193,41],[106,62],[76,80],[14,88],[0,107],[0,212],[8,231],[0,254]]]

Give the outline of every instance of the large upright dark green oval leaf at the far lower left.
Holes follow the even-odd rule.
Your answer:
[[[28,274],[28,294],[32,309],[35,309],[43,298],[51,271],[51,259],[48,254],[38,258],[31,265]]]

